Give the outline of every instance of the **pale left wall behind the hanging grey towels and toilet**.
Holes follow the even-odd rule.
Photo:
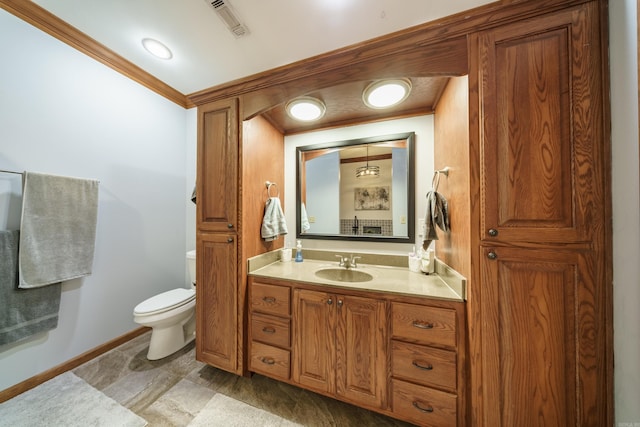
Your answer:
[[[93,274],[63,285],[56,329],[0,347],[2,390],[135,329],[136,304],[185,286],[196,126],[194,112],[3,10],[0,52],[0,169],[100,181]],[[2,182],[0,228],[15,228],[19,180]]]

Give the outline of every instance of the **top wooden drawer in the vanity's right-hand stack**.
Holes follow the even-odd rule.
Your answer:
[[[391,319],[395,339],[456,348],[455,310],[394,302]]]

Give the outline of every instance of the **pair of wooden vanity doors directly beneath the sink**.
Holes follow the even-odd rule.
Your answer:
[[[385,301],[295,289],[293,380],[368,407],[386,404]]]

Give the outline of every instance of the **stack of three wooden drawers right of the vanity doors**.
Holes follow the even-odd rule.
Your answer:
[[[391,302],[391,406],[419,425],[465,425],[464,307]]]

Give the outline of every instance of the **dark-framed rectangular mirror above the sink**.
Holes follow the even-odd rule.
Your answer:
[[[296,236],[412,243],[415,133],[298,147]]]

